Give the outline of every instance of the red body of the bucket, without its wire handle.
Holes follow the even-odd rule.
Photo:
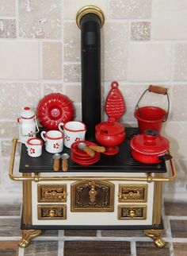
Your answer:
[[[165,122],[167,118],[166,111],[160,107],[139,107],[134,114],[138,120],[140,134],[147,129],[157,130],[159,134],[162,122]]]

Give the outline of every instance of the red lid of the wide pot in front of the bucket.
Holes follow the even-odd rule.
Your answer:
[[[166,138],[157,133],[156,130],[145,130],[143,134],[135,135],[130,142],[132,149],[143,154],[160,154],[169,149]]]

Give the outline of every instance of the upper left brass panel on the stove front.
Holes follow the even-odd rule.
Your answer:
[[[64,203],[67,201],[66,184],[38,184],[38,202]]]

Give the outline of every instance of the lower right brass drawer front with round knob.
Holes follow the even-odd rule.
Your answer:
[[[147,207],[144,205],[119,205],[118,219],[147,219]]]

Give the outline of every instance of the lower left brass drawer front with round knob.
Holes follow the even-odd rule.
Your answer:
[[[38,219],[67,219],[67,207],[65,204],[38,205]]]

